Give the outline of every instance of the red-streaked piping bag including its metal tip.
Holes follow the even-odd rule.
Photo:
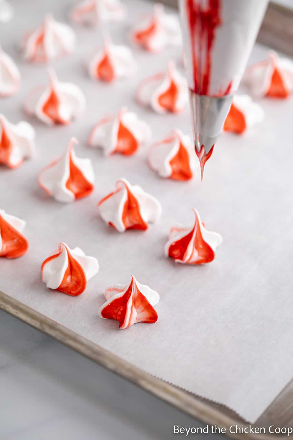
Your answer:
[[[224,126],[268,0],[178,0],[201,180]]]

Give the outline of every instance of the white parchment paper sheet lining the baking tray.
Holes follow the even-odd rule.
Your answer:
[[[127,42],[129,24],[151,3],[126,2],[127,22],[110,26],[114,42]],[[71,3],[72,4],[72,3]],[[69,1],[14,2],[16,16],[0,27],[0,44],[14,56],[22,73],[20,92],[0,100],[11,122],[25,119],[22,103],[36,84],[47,81],[46,67],[20,59],[21,35],[52,11],[67,20]],[[224,403],[254,422],[293,375],[293,100],[260,101],[266,119],[245,136],[223,133],[206,164],[188,183],[163,180],[146,164],[146,150],[133,157],[104,158],[86,145],[90,129],[101,117],[123,105],[152,126],[153,140],[174,127],[191,134],[189,109],[179,115],[157,115],[134,101],[140,79],[180,59],[181,51],[153,55],[134,48],[137,75],[114,84],[92,82],[83,62],[100,43],[97,29],[76,27],[74,55],[53,63],[61,81],[80,85],[87,110],[68,126],[48,127],[26,118],[36,129],[37,158],[19,169],[0,167],[0,208],[27,221],[29,252],[16,260],[0,260],[0,290],[78,334],[115,352],[166,381]],[[250,63],[263,59],[256,46]],[[61,154],[71,136],[80,144],[78,157],[90,157],[96,187],[90,197],[64,205],[37,185],[37,174]],[[118,178],[140,184],[156,196],[163,215],[148,231],[119,234],[99,217],[98,201]],[[191,208],[206,227],[223,236],[216,259],[206,266],[184,266],[164,256],[170,226],[192,224]],[[79,297],[48,290],[41,282],[43,260],[64,241],[97,257],[100,271]],[[118,323],[98,317],[108,284],[127,283],[134,274],[160,294],[155,324],[118,330]],[[80,374],[83,374],[81,371]]]

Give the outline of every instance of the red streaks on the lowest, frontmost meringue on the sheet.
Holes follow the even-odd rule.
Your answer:
[[[131,299],[132,293],[133,295]],[[132,304],[130,305],[130,314],[127,323],[127,306],[129,301],[132,301]],[[131,318],[134,311],[137,312],[136,322],[152,324],[158,319],[156,310],[138,289],[132,277],[127,291],[121,297],[114,298],[113,301],[109,302],[109,304],[101,311],[101,315],[106,319],[116,319],[116,321],[119,322],[119,328],[124,326],[127,328],[131,325]]]

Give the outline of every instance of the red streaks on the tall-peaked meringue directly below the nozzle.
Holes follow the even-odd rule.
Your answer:
[[[197,216],[197,213],[195,213],[195,225],[192,231],[189,232],[187,235],[184,235],[184,237],[180,238],[180,240],[177,240],[171,244],[168,252],[169,257],[172,257],[175,260],[182,261],[184,259],[184,255],[186,253],[188,245],[192,240],[193,240],[192,243],[193,251],[191,256],[186,261],[186,263],[203,264],[203,263],[210,263],[210,261],[213,261],[215,257],[215,253],[213,249],[210,247],[210,245],[206,243],[203,239],[203,235],[199,227],[199,218]],[[191,261],[194,254],[194,250],[198,254],[198,259],[196,261]]]

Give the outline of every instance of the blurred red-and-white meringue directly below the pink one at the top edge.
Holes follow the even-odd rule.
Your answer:
[[[108,37],[103,49],[90,60],[88,70],[92,79],[112,82],[132,76],[137,71],[137,62],[130,48],[113,44]]]

